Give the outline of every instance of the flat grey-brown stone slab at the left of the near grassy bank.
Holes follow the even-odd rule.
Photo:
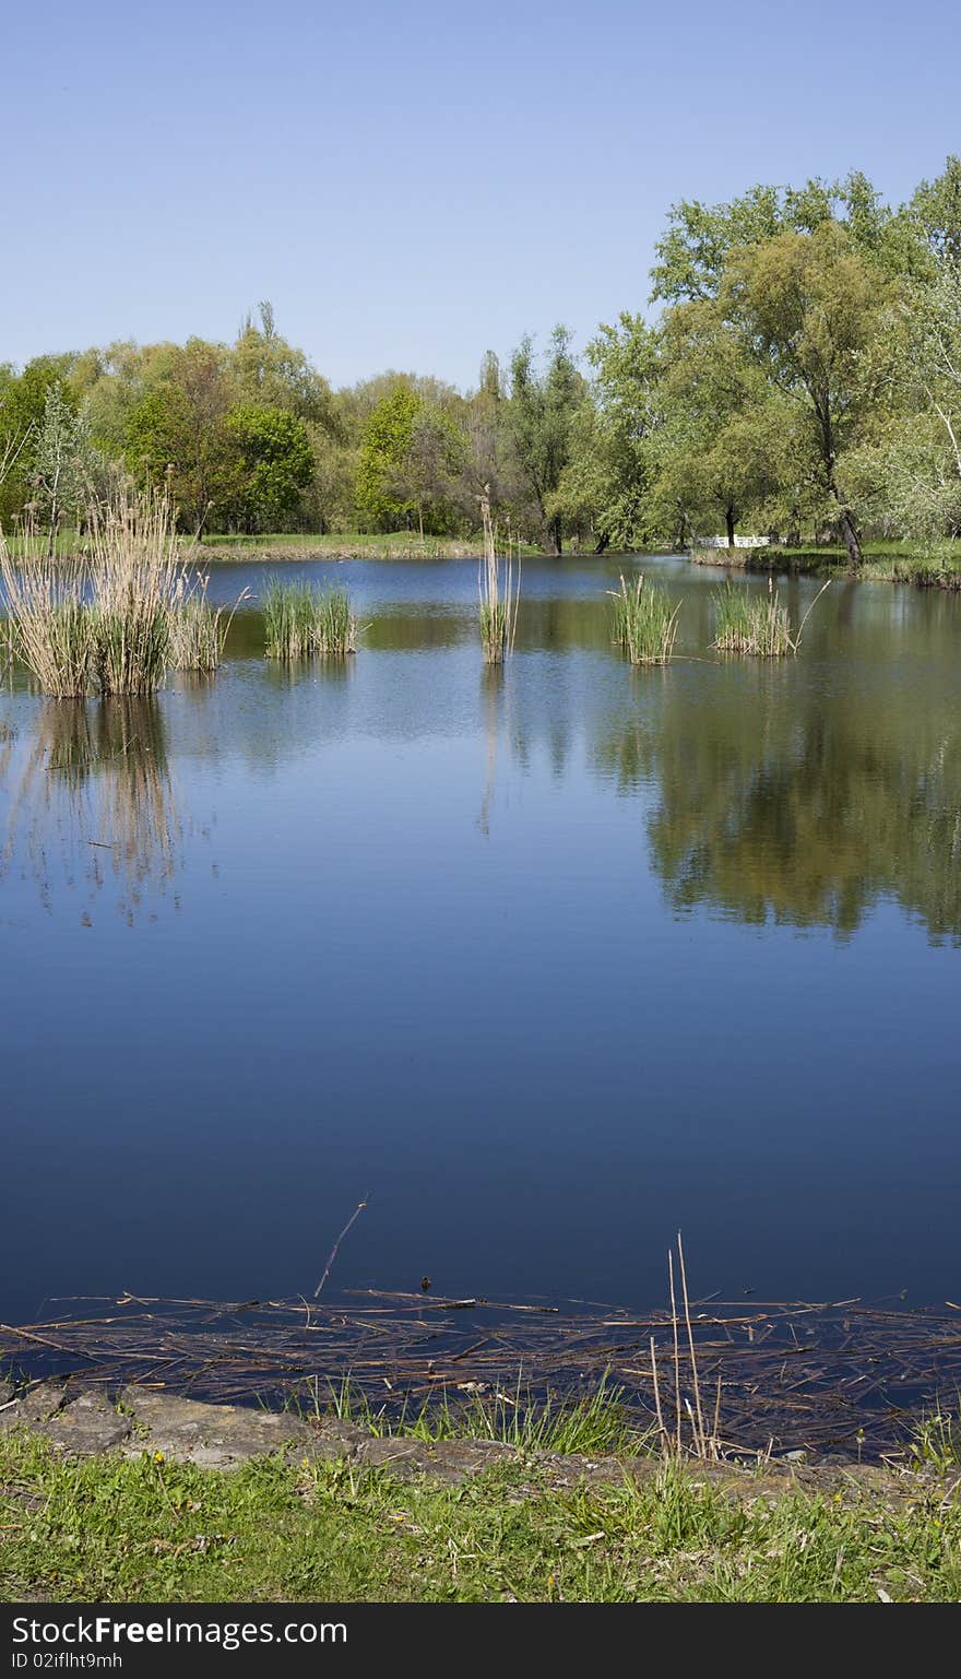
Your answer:
[[[143,1387],[124,1389],[122,1399],[143,1431],[139,1439],[127,1441],[129,1454],[163,1452],[174,1462],[235,1469],[248,1457],[283,1449],[310,1452],[317,1444],[317,1431],[287,1412],[203,1405],[195,1399],[176,1399]],[[325,1437],[325,1444],[335,1447],[337,1441]]]

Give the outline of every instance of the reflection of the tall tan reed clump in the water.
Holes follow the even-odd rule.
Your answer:
[[[10,789],[0,868],[34,878],[47,910],[60,892],[102,895],[132,923],[156,918],[183,866],[163,717],[153,698],[45,700],[7,747]]]

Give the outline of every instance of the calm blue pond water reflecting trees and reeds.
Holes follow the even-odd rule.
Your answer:
[[[723,662],[647,561],[632,672],[622,564],[527,562],[501,673],[471,562],[349,562],[270,568],[349,584],[345,667],[253,601],[151,704],[7,678],[7,1320],[309,1295],[366,1194],[342,1286],[661,1305],[681,1226],[701,1293],[959,1298],[961,599],[834,583]]]

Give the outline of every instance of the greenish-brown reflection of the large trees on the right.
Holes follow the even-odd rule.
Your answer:
[[[961,725],[938,704],[879,705],[763,670],[607,729],[595,762],[651,784],[651,861],[671,903],[850,935],[882,898],[961,942]]]

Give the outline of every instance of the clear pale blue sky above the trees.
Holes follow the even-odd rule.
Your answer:
[[[335,384],[639,309],[681,196],[961,151],[946,0],[50,0],[0,37],[0,361],[231,337]]]

